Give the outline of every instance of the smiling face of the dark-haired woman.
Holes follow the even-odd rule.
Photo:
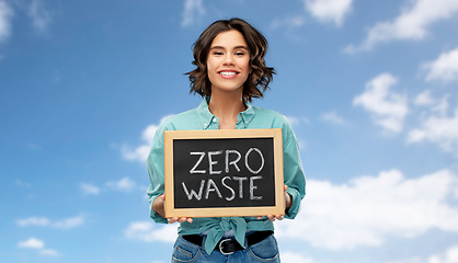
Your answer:
[[[216,90],[243,93],[250,71],[250,52],[243,35],[236,30],[219,33],[213,39],[207,57],[211,93]]]

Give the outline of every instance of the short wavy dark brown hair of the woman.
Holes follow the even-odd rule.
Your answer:
[[[207,57],[213,39],[221,32],[237,30],[240,32],[250,50],[251,73],[243,84],[243,98],[251,101],[252,98],[262,98],[268,83],[273,79],[275,70],[265,66],[264,56],[267,52],[267,41],[253,26],[241,19],[218,20],[208,26],[194,43],[194,61],[196,69],[187,72],[191,81],[190,93],[198,93],[202,96],[211,95],[211,83],[207,76]]]

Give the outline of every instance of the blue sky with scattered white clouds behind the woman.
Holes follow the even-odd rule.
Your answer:
[[[0,0],[0,261],[165,263],[145,159],[210,23],[276,69],[307,195],[283,262],[458,262],[458,0]]]

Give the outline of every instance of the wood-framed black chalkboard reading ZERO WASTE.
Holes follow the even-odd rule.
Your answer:
[[[282,129],[164,132],[165,217],[284,215]]]

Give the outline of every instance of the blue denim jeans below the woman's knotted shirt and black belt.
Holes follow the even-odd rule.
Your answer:
[[[204,239],[205,243],[205,239]],[[247,243],[247,241],[245,241]],[[172,263],[173,262],[190,262],[190,263],[205,263],[205,262],[233,262],[233,263],[250,263],[250,262],[273,262],[279,263],[278,244],[275,237],[272,235],[266,239],[248,247],[244,250],[236,251],[230,255],[224,255],[218,250],[214,250],[210,254],[205,252],[202,245],[196,245],[184,240],[181,236],[176,239],[173,245]]]

